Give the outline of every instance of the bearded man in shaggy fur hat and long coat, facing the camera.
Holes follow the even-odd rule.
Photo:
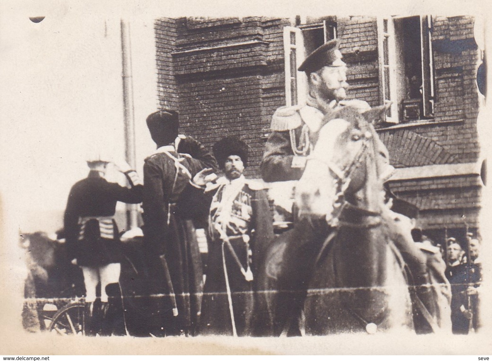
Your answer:
[[[243,175],[246,143],[223,138],[215,143],[214,154],[224,177],[205,189],[212,201],[200,333],[247,336],[253,333],[256,270],[274,239],[272,214],[264,186]],[[205,178],[203,173],[194,182],[204,187]]]

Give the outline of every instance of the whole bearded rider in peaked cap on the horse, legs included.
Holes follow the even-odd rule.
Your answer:
[[[338,40],[332,40],[307,56],[299,67],[299,71],[306,72],[308,78],[307,105],[281,107],[277,109],[272,118],[272,134],[270,135],[261,165],[263,179],[267,182],[296,181],[301,178],[306,167],[306,161],[313,149],[317,134],[326,118],[342,107],[350,105],[357,108],[360,113],[370,109],[369,104],[363,101],[343,101],[346,96],[346,64],[341,60],[338,50]],[[325,122],[323,121],[325,119]],[[384,165],[379,172],[379,177],[385,181],[392,172],[393,167],[388,163],[388,151],[384,144],[377,139],[378,156],[381,157],[380,164]],[[288,198],[290,194],[283,194]],[[280,197],[282,198],[282,197]],[[277,201],[277,199],[275,199]],[[276,202],[277,203],[277,202]],[[288,202],[278,202],[283,214],[289,213]],[[296,205],[292,209],[294,218],[296,216]],[[385,217],[391,222],[397,218],[389,210]],[[292,221],[292,220],[290,220]],[[283,287],[289,291],[285,297],[294,297],[293,304],[299,307],[303,301],[302,292],[306,290],[307,279],[310,277],[313,267],[313,259],[320,249],[323,240],[333,232],[334,228],[327,224],[324,217],[319,219],[299,220],[303,222],[302,232],[293,230],[292,238],[295,244],[288,244],[285,248],[284,258],[291,260],[290,270],[278,270],[279,282],[284,282]],[[428,283],[428,272],[425,266],[425,256],[414,245],[411,238],[411,228],[404,229],[402,223],[396,227],[395,244],[402,253],[405,262],[408,263],[410,271],[414,275],[413,285],[422,286]],[[273,271],[275,273],[275,271]],[[417,287],[419,297],[426,308],[433,312],[433,300],[425,286]],[[290,292],[290,291],[296,292]],[[290,295],[290,296],[289,296]],[[288,301],[287,301],[288,302]],[[284,305],[289,308],[289,305]],[[299,311],[298,311],[299,312]],[[295,333],[295,331],[293,331]],[[292,330],[291,330],[292,333]]]

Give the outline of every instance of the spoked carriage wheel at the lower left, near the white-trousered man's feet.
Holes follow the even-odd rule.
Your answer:
[[[85,304],[81,302],[63,306],[53,316],[48,330],[62,335],[84,335],[86,326],[84,310]]]

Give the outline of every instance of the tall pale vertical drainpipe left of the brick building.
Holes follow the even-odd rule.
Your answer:
[[[130,24],[121,19],[122,35],[122,78],[123,78],[123,121],[125,158],[132,169],[135,162],[135,115],[133,112],[133,78],[131,72]],[[126,205],[126,225],[129,229],[138,227],[136,204]]]

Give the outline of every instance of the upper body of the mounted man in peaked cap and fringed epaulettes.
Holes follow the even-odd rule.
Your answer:
[[[276,223],[279,225],[292,225],[291,212],[294,217],[296,213],[292,211],[292,188],[303,175],[313,140],[326,114],[346,105],[361,112],[370,109],[365,101],[343,100],[348,88],[347,65],[342,61],[338,46],[336,39],[325,43],[307,56],[299,67],[298,70],[307,75],[307,104],[280,107],[272,117],[272,133],[265,145],[261,173],[264,181],[274,182],[270,196],[274,198]],[[384,145],[381,144],[381,148],[381,153],[387,156]],[[388,165],[386,175],[389,176],[392,170]]]

